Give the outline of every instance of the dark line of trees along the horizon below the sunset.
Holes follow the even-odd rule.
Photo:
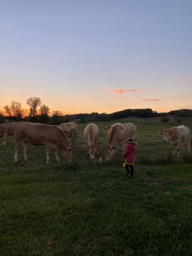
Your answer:
[[[49,124],[60,124],[63,122],[70,122],[76,120],[78,122],[87,121],[108,121],[118,120],[126,117],[166,117],[167,115],[174,115],[175,120],[180,120],[180,117],[192,116],[192,110],[180,109],[169,111],[167,113],[157,113],[152,109],[125,109],[122,111],[113,112],[111,114],[93,112],[91,114],[80,113],[63,115],[60,111],[50,112],[49,106],[41,103],[39,97],[30,97],[26,103],[29,105],[29,110],[22,108],[20,102],[11,101],[10,105],[4,106],[4,111],[0,111],[0,122],[7,121],[29,121]]]

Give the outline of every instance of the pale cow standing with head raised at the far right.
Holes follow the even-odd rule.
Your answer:
[[[169,142],[172,145],[172,155],[175,155],[177,148],[177,157],[180,157],[180,147],[182,144],[188,143],[188,151],[190,151],[190,132],[187,126],[179,125],[170,130],[164,130],[159,133],[163,136],[164,142]]]

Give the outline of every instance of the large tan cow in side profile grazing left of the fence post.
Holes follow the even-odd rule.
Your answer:
[[[51,150],[54,151],[57,162],[60,162],[58,152],[66,160],[72,162],[72,149],[69,146],[65,135],[55,125],[24,122],[15,130],[15,163],[18,162],[19,148],[23,148],[24,160],[27,159],[27,145],[44,145],[47,153],[47,164],[50,163]]]

